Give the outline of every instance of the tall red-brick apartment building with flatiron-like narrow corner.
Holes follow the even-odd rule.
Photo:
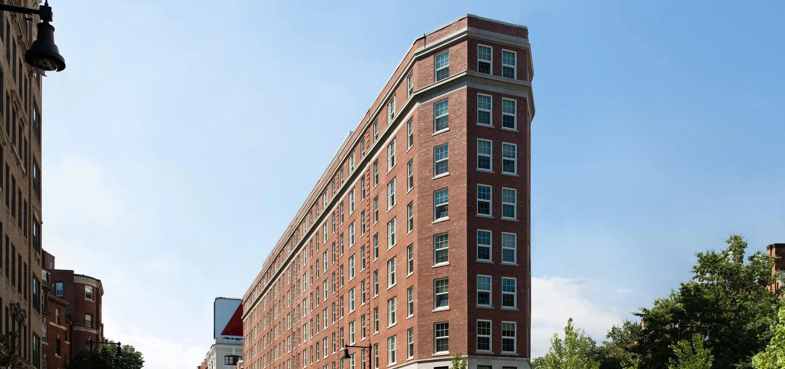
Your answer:
[[[524,26],[414,42],[244,296],[244,367],[530,367],[532,75]]]

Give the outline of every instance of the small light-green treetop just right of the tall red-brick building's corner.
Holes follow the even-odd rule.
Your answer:
[[[582,329],[576,329],[572,318],[564,327],[564,341],[558,334],[550,339],[550,349],[545,356],[531,362],[534,369],[599,369],[600,364],[593,359],[597,342],[587,336]]]

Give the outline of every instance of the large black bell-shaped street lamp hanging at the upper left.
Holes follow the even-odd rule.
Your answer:
[[[24,61],[42,71],[62,71],[65,69],[65,59],[60,55],[60,49],[54,44],[54,27],[52,21],[52,7],[49,0],[38,9],[25,8],[24,6],[0,4],[0,10],[13,13],[38,14],[41,23],[38,27],[38,38],[27,52],[24,52]]]

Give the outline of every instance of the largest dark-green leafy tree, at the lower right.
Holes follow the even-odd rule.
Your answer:
[[[772,276],[774,259],[757,251],[745,262],[747,241],[731,235],[725,242],[728,247],[723,251],[696,254],[692,280],[681,283],[678,291],[656,299],[652,308],[634,313],[645,323],[644,329],[624,333],[622,327],[621,333],[608,333],[616,345],[612,350],[615,356],[626,352],[640,369],[661,369],[676,357],[672,348],[677,343],[679,322],[711,324],[713,368],[752,367],[752,356],[768,344],[776,320],[777,297],[767,289],[776,280]]]

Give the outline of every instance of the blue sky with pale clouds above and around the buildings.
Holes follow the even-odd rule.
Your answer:
[[[595,338],[742,233],[785,242],[782,2],[58,1],[43,235],[109,338],[191,368],[415,38],[529,27],[534,355]],[[220,9],[214,9],[220,6]]]

